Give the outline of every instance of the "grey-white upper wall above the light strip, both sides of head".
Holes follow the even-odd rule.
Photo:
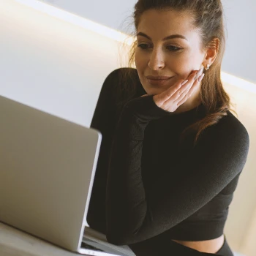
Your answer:
[[[36,0],[34,0],[36,1]],[[40,0],[113,29],[132,14],[137,0]],[[227,49],[222,70],[256,83],[256,1],[222,0],[227,25]]]

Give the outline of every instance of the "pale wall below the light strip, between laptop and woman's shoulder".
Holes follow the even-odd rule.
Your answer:
[[[13,0],[0,1],[0,94],[89,126],[116,42]]]

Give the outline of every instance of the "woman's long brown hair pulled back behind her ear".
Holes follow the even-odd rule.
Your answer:
[[[224,26],[224,12],[221,0],[138,0],[135,4],[135,9],[132,15],[132,23],[135,29],[130,33],[136,37],[138,25],[143,12],[146,10],[176,10],[178,12],[188,12],[192,15],[193,25],[199,29],[201,35],[202,48],[214,47],[213,40],[219,39],[218,54],[211,68],[206,71],[206,75],[202,80],[200,89],[200,101],[206,110],[206,116],[191,124],[184,129],[181,138],[184,135],[194,130],[196,132],[194,146],[204,129],[227,116],[227,111],[231,110],[230,97],[223,88],[221,81],[221,65],[225,53],[225,26]],[[135,48],[137,47],[137,40],[132,44],[129,51],[128,67],[134,67],[135,63]],[[135,93],[136,81],[131,83],[132,69],[123,69],[121,90],[129,91],[130,95]],[[125,83],[129,81],[129,83]],[[232,110],[234,113],[236,111]],[[236,113],[237,115],[237,113]]]

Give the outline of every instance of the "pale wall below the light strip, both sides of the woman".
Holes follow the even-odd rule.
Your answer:
[[[0,24],[0,94],[89,126],[103,80],[118,67],[117,42],[15,0],[0,1]],[[233,249],[251,253],[255,240],[249,233],[255,232],[247,231],[256,209],[256,94],[225,87],[250,136],[225,233]]]

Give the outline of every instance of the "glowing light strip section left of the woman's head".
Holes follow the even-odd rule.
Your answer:
[[[102,36],[108,37],[110,39],[114,39],[118,42],[124,42],[125,40],[127,45],[132,45],[132,42],[134,42],[134,38],[132,37],[129,38],[127,34],[116,31],[115,29],[110,29],[107,26],[103,26],[99,23],[88,20],[86,18],[82,18],[71,12],[61,10],[58,7],[54,7],[42,1],[38,1],[38,0],[15,0],[15,1],[18,1],[21,4],[25,4],[26,6],[31,7],[34,10],[38,10],[40,12],[46,13],[55,18],[59,18],[60,20],[67,21],[76,26],[80,26],[83,29],[94,31],[97,34],[101,34]]]

